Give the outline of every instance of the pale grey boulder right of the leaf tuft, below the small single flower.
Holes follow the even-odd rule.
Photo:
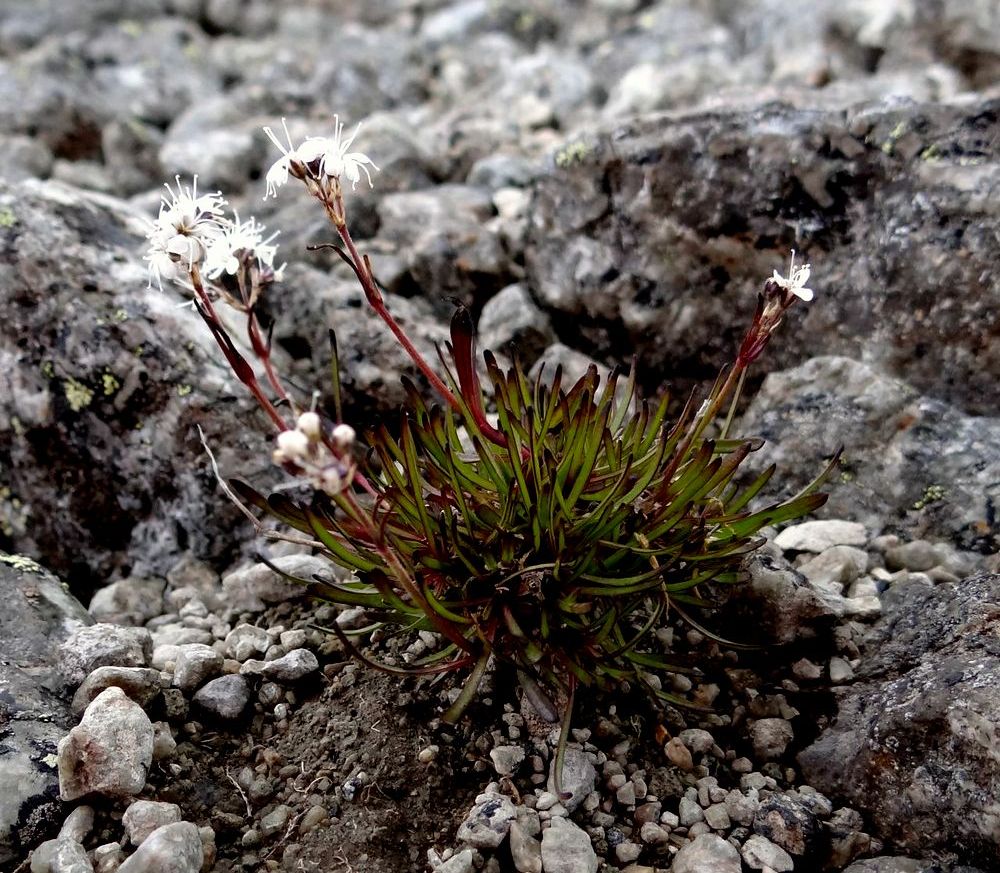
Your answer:
[[[1000,545],[995,409],[993,417],[966,415],[874,365],[819,357],[770,375],[741,429],[767,441],[748,467],[777,464],[774,490],[797,490],[845,447],[841,470],[824,486],[823,515],[853,518],[872,535],[928,534],[987,554]]]

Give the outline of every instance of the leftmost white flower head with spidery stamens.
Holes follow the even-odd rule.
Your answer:
[[[164,186],[170,196],[160,199],[160,214],[146,234],[149,285],[155,279],[161,290],[164,279],[180,280],[191,272],[226,226],[222,217],[226,201],[220,192],[199,197],[197,176],[191,187],[181,185],[179,176],[175,178],[177,191]]]

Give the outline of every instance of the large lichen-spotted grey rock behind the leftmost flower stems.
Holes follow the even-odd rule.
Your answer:
[[[266,457],[265,431],[179,291],[147,290],[142,216],[32,180],[0,183],[0,209],[9,540],[82,592],[116,568],[162,575],[188,549],[231,554],[238,511],[196,424],[232,473]]]

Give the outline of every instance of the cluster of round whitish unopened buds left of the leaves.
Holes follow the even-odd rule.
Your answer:
[[[338,424],[328,435],[316,412],[303,412],[295,428],[278,434],[274,462],[303,477],[311,487],[331,497],[343,491],[354,478],[351,458],[354,428]]]

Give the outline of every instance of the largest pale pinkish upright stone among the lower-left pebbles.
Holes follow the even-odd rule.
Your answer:
[[[107,688],[59,741],[57,760],[63,800],[138,794],[153,762],[153,725],[124,691]]]

